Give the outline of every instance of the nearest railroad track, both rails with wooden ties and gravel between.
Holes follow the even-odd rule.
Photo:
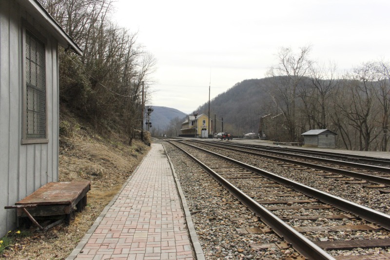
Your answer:
[[[188,143],[177,141],[170,143],[175,143],[176,147],[191,156],[264,223],[272,227],[274,232],[287,243],[292,243],[294,249],[306,258],[372,259],[372,256],[332,257],[327,252],[390,246],[389,215]],[[377,237],[370,239],[374,237],[375,232],[379,231],[384,234],[383,239]],[[360,238],[368,239],[337,239],[342,232],[351,234],[359,232],[362,234]],[[267,245],[255,246],[266,247]],[[383,258],[375,257],[375,259],[389,259],[390,255],[382,254],[380,257]]]

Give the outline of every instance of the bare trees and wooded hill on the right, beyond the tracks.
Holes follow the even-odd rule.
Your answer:
[[[261,132],[269,140],[302,141],[310,129],[337,133],[341,149],[389,151],[390,63],[371,60],[340,73],[310,59],[311,46],[279,48],[267,77],[244,80],[211,100],[218,132]],[[208,103],[199,107],[208,113]]]

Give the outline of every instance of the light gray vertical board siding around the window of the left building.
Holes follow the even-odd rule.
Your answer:
[[[48,143],[20,144],[23,114],[24,24],[46,37]],[[16,227],[16,211],[4,210],[50,181],[58,181],[58,42],[16,2],[0,0],[0,237]]]

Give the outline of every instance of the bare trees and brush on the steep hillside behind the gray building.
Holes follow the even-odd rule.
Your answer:
[[[155,58],[137,42],[137,33],[112,20],[112,0],[40,3],[84,51],[82,57],[59,52],[61,105],[96,130],[126,133],[131,143],[141,124],[142,82],[148,93]]]

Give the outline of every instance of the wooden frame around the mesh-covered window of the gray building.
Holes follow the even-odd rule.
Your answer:
[[[48,143],[48,97],[47,97],[47,75],[48,75],[48,67],[47,67],[47,38],[44,37],[42,34],[39,33],[38,30],[36,30],[31,24],[29,24],[26,20],[22,20],[21,22],[22,30],[21,30],[21,80],[22,80],[22,89],[21,89],[21,95],[22,95],[22,117],[21,117],[21,144],[35,144],[35,143]],[[28,30],[31,34],[33,34],[35,37],[37,37],[40,41],[42,41],[44,45],[44,53],[45,53],[45,138],[42,139],[34,139],[34,138],[27,138],[27,82],[26,82],[26,30]]]

